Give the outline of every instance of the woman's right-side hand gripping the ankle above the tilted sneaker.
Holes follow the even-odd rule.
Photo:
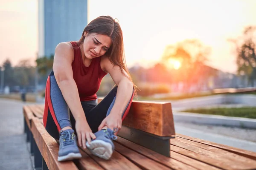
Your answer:
[[[105,126],[110,128],[111,130],[113,130],[114,127],[120,130],[122,127],[122,116],[110,113],[105,119],[102,120],[102,123],[99,125],[98,130],[102,130],[102,128]]]

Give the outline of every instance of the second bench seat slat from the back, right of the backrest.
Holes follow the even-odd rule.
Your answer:
[[[209,150],[209,151],[211,151],[211,152],[213,152],[213,153],[215,153],[219,156],[223,156],[225,159],[229,159],[232,162],[236,162],[237,164],[254,164],[255,167],[256,167],[256,160],[252,160],[252,159],[249,159],[247,157],[240,156],[240,155],[237,155],[235,153],[228,152],[226,150],[222,150],[218,147],[211,147],[207,144],[198,143],[198,142],[183,139],[183,138],[180,138],[180,137],[176,137],[175,139],[172,139],[172,142],[174,142],[176,140],[177,140],[177,142],[183,142],[183,143],[186,143],[186,144],[198,147],[198,148]]]

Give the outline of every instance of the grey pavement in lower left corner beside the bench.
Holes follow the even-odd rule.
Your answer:
[[[32,170],[23,134],[23,103],[0,99],[0,170]]]

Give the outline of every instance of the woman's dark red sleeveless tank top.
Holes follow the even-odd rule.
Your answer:
[[[81,51],[77,42],[71,41],[74,49],[74,60],[72,62],[73,78],[76,82],[81,101],[97,99],[96,92],[102,78],[107,74],[100,67],[101,57],[92,59],[89,67],[83,63]]]

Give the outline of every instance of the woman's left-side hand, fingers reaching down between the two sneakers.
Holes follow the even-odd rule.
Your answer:
[[[76,133],[79,146],[84,149],[86,149],[86,141],[90,144],[91,139],[96,139],[96,136],[90,129],[86,119],[76,120]]]

